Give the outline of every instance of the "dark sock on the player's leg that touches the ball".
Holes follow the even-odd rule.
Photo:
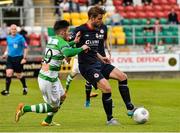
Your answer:
[[[132,110],[134,108],[134,105],[131,103],[129,88],[127,86],[127,79],[119,81],[119,92],[122,96],[124,103],[126,104],[126,108],[128,110]]]

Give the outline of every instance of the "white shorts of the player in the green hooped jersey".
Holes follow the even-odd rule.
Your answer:
[[[60,98],[65,94],[60,80],[58,79],[56,82],[49,82],[38,77],[38,84],[44,101],[51,107],[59,107]]]

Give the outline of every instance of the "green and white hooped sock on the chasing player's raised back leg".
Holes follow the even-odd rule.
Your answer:
[[[23,108],[24,112],[36,112],[36,113],[48,113],[53,112],[53,108],[47,103],[40,103],[37,105],[25,105]]]

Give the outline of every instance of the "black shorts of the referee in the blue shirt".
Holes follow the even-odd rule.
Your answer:
[[[13,69],[14,72],[21,73],[23,72],[23,64],[21,64],[21,60],[23,56],[11,57],[8,56],[6,62],[6,69]]]

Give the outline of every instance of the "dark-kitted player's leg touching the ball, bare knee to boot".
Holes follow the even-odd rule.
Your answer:
[[[117,68],[114,68],[110,73],[110,78],[118,80],[119,92],[128,110],[128,115],[132,116],[135,109],[131,102],[129,87],[127,83],[127,75]]]

